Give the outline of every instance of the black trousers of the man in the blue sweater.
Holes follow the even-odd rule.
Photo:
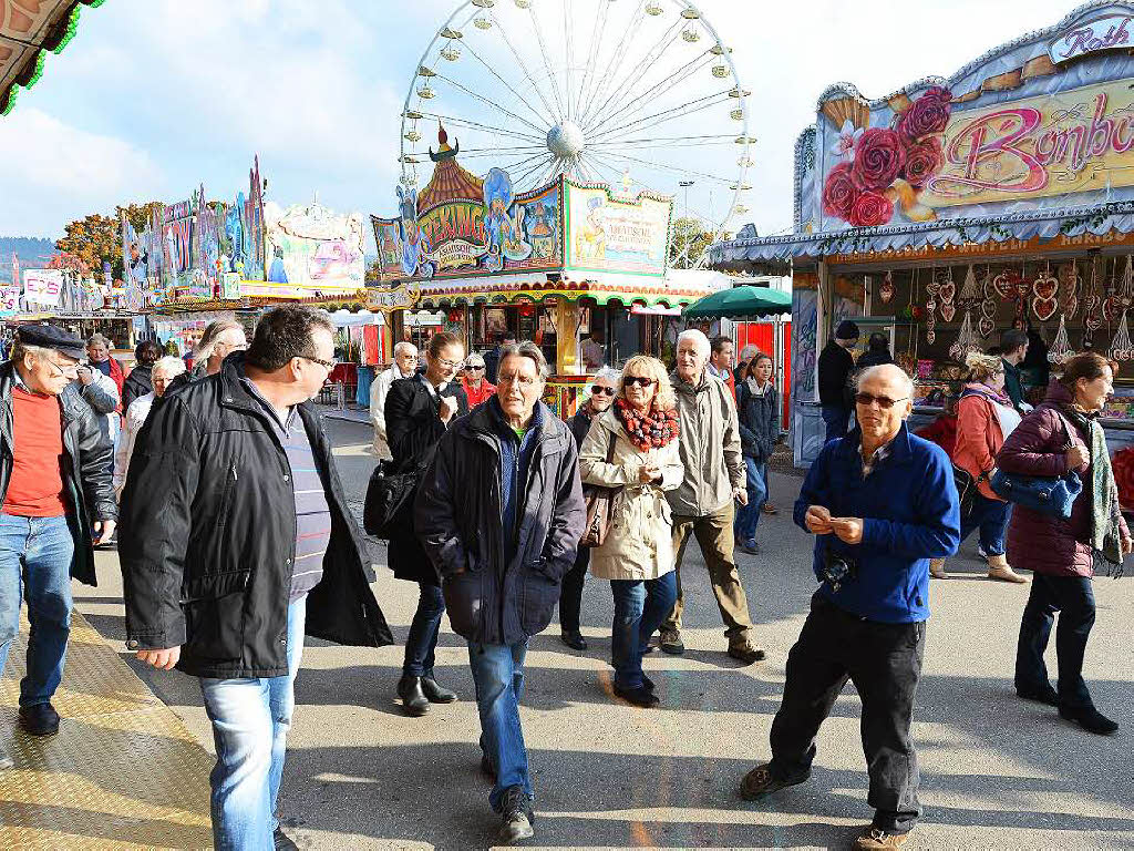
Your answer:
[[[924,623],[863,621],[816,593],[787,657],[784,702],[772,722],[772,774],[807,775],[819,726],[850,680],[862,698],[862,747],[870,773],[866,801],[874,808],[873,826],[908,833],[921,816],[909,724],[924,650]]]

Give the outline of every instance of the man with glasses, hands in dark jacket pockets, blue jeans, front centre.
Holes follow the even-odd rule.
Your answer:
[[[449,622],[468,640],[481,768],[500,839],[533,835],[519,701],[527,640],[551,621],[586,509],[578,450],[539,399],[548,364],[533,343],[501,349],[497,395],[441,438],[417,494],[417,534],[441,574]]]

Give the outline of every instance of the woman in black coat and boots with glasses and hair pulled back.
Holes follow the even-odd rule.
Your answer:
[[[452,334],[434,334],[425,352],[425,372],[399,378],[386,397],[386,433],[391,473],[424,473],[446,429],[468,413],[468,399],[457,371],[465,347]],[[416,582],[417,612],[409,624],[406,656],[398,681],[398,697],[407,715],[429,711],[430,703],[451,703],[457,694],[438,684],[433,675],[437,637],[445,615],[440,579],[422,549],[408,517],[400,534],[390,538],[389,563],[393,575]]]

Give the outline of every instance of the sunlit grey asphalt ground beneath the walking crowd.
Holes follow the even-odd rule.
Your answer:
[[[361,512],[373,467],[370,429],[327,421],[352,504]],[[532,848],[846,848],[869,823],[866,766],[852,685],[818,739],[811,780],[761,803],[737,794],[768,758],[784,664],[814,590],[811,538],[790,521],[799,479],[773,473],[776,516],[760,522],[761,554],[739,555],[763,663],[725,655],[720,617],[696,547],[683,571],[682,657],[655,652],[646,669],[662,706],[638,709],[611,694],[609,587],[587,582],[586,652],[567,649],[558,625],[531,642],[522,710],[535,785]],[[1091,735],[1012,688],[1027,585],[984,578],[975,539],[931,587],[924,675],[914,740],[923,849],[1134,848],[1134,579],[1097,579],[1098,621],[1085,676],[1099,708],[1122,724]],[[399,642],[416,585],[384,568],[374,591]],[[1016,565],[1017,568],[1024,565]],[[212,735],[194,680],[143,668],[125,650],[121,582],[112,551],[99,554],[100,587],[76,585],[78,608],[116,643],[201,743]],[[1055,679],[1055,637],[1049,665]],[[492,845],[498,819],[479,773],[479,722],[467,650],[442,626],[438,675],[460,694],[423,718],[393,696],[403,648],[344,648],[308,640],[296,686],[280,816],[301,848],[474,849]]]

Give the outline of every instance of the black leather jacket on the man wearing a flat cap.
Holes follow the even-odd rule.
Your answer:
[[[11,388],[16,385],[16,368],[8,361],[0,364],[0,502],[8,494],[12,464]],[[87,585],[96,585],[94,548],[91,546],[91,523],[113,520],[118,515],[115,488],[111,483],[110,460],[115,450],[102,430],[102,418],[91,410],[69,385],[59,394],[64,423],[64,486],[70,502],[67,524],[75,539],[71,576]]]

